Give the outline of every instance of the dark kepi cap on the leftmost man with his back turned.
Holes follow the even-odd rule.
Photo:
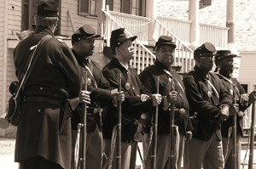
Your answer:
[[[41,1],[38,4],[38,15],[44,17],[58,17],[59,3],[55,1]]]

